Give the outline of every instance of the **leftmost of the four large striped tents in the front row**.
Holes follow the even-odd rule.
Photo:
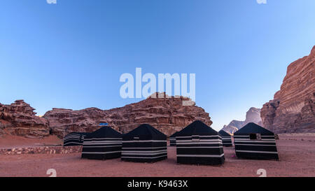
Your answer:
[[[118,158],[121,155],[122,135],[111,127],[101,127],[85,136],[82,157],[95,160]]]

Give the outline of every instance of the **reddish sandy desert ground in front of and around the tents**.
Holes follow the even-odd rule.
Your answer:
[[[224,148],[221,166],[176,163],[176,148],[168,148],[168,159],[155,163],[114,160],[83,160],[80,154],[0,156],[0,176],[315,176],[315,134],[281,134],[277,140],[279,161],[237,159],[234,147]]]

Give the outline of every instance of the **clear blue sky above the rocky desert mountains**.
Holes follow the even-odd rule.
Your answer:
[[[1,1],[0,102],[109,109],[122,73],[196,73],[212,127],[244,120],[315,45],[314,0]]]

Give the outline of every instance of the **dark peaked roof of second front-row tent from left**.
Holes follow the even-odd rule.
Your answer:
[[[131,132],[125,134],[123,139],[134,139],[135,136],[139,137],[140,139],[148,140],[165,140],[167,138],[165,134],[148,124],[143,124],[136,129],[133,129]]]

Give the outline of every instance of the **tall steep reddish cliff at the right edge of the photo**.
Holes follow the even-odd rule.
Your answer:
[[[277,134],[315,132],[315,46],[309,56],[288,66],[274,99],[264,104],[265,128]]]

